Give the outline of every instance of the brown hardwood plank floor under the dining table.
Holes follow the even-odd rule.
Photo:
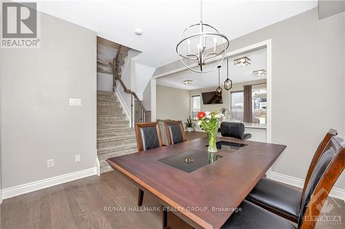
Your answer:
[[[191,140],[188,135],[187,140]],[[136,186],[111,171],[4,199],[0,228],[161,228],[161,209],[155,197],[145,193],[139,208],[137,195]],[[333,203],[331,198],[328,201]],[[331,213],[341,216],[342,224],[318,225],[317,229],[345,228],[344,201],[335,201],[339,207],[333,204]]]

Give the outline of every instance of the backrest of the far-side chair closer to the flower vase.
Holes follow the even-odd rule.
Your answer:
[[[168,144],[186,142],[186,132],[184,132],[184,125],[181,121],[166,121],[164,127]]]

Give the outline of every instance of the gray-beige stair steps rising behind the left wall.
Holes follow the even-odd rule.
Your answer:
[[[97,91],[97,155],[101,173],[112,171],[106,159],[135,152],[135,130],[129,127],[114,92]]]

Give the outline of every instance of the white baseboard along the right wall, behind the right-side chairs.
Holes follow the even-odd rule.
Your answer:
[[[273,171],[270,171],[270,173],[267,174],[267,177],[269,179],[274,179],[277,182],[282,182],[284,184],[289,184],[292,186],[296,186],[299,188],[303,188],[304,186],[304,179],[300,179],[297,177],[291,177],[289,175],[284,175],[281,173],[275,173]],[[331,193],[329,193],[331,197],[335,197],[338,199],[342,199],[345,201],[345,190],[342,188],[332,188]]]

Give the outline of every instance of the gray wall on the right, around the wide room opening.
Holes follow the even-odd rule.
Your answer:
[[[344,13],[319,20],[317,8],[309,10],[231,41],[228,52],[266,39],[272,39],[272,140],[287,145],[273,171],[304,179],[328,129],[344,138]],[[336,186],[345,188],[344,178]]]

